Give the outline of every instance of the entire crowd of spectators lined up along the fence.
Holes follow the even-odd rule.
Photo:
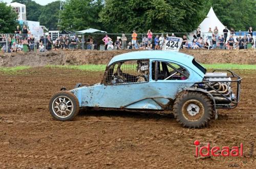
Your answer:
[[[203,36],[202,36],[203,34]],[[215,29],[212,31],[211,27],[207,33],[201,33],[200,27],[193,34],[185,34],[182,36],[181,48],[184,49],[249,49],[254,47],[252,27],[249,27],[247,33],[242,36],[241,32],[236,33],[234,29],[230,28],[230,35],[227,27],[224,30]],[[180,36],[180,35],[179,35]],[[188,37],[187,37],[188,36]],[[148,30],[146,34],[138,36],[134,30],[132,34],[122,34],[113,40],[108,35],[102,39],[103,50],[114,49],[147,49],[159,50],[164,47],[166,37],[168,34],[153,34]],[[172,34],[170,37],[176,37]],[[83,46],[82,46],[83,45]],[[81,36],[77,35],[60,35],[53,40],[51,36],[34,37],[33,34],[24,25],[22,29],[17,26],[14,34],[0,35],[0,46],[3,52],[17,52],[17,51],[38,51],[45,52],[49,50],[61,49],[97,49],[98,41],[91,35],[88,39],[81,40]]]

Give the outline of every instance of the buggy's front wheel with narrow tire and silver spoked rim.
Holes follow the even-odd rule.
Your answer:
[[[50,99],[49,111],[56,120],[71,121],[79,112],[78,99],[71,92],[57,92]]]

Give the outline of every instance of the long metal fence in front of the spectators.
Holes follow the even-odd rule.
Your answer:
[[[50,36],[28,34],[0,34],[2,52],[50,50],[115,50],[115,49],[161,49],[167,36],[181,37],[185,41],[182,48],[206,49],[248,49],[255,48],[256,32],[218,33],[153,33],[147,34],[60,34],[55,39]],[[232,37],[230,37],[232,35]],[[231,39],[230,39],[231,38]]]

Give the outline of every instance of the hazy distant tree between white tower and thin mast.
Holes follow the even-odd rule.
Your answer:
[[[38,21],[40,25],[45,25],[49,30],[57,30],[59,18],[60,1],[47,4],[42,8]]]

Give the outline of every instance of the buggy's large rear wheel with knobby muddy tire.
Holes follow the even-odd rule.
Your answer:
[[[183,92],[174,103],[174,116],[183,126],[202,128],[207,126],[213,112],[209,97],[199,92]]]

